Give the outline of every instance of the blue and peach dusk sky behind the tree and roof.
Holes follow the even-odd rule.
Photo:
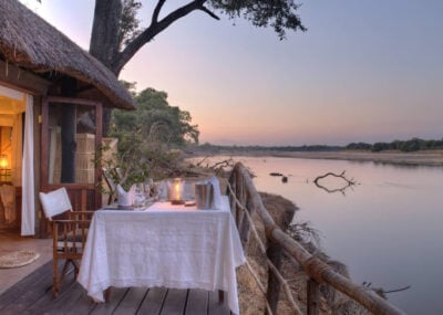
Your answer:
[[[95,1],[22,2],[87,50]],[[200,143],[441,139],[442,12],[441,0],[305,1],[308,31],[285,41],[243,20],[193,12],[145,45],[120,78],[167,92],[198,124]]]

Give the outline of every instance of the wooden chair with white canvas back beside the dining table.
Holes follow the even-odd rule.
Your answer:
[[[40,192],[40,202],[44,216],[52,223],[53,240],[53,295],[56,296],[66,275],[69,264],[79,274],[79,261],[82,259],[87,229],[94,211],[73,211],[64,187],[44,193]],[[59,261],[64,261],[59,274]]]

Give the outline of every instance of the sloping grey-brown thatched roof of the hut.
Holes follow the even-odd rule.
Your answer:
[[[93,85],[100,92],[93,94],[107,106],[134,108],[130,93],[111,71],[18,0],[0,1],[1,59],[47,77],[75,77]]]

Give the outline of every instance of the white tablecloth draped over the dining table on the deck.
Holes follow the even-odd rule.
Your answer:
[[[235,269],[245,255],[227,197],[224,204],[197,210],[157,202],[144,211],[96,211],[78,281],[102,302],[110,286],[223,290],[238,314]]]

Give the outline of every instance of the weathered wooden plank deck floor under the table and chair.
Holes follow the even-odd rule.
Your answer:
[[[217,292],[163,287],[113,287],[109,302],[94,303],[72,272],[54,298],[51,261],[0,295],[0,314],[231,315],[225,303]]]

